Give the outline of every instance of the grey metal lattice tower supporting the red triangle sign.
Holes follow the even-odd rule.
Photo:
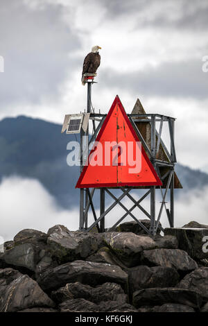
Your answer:
[[[92,84],[94,83],[93,79],[87,80],[87,113],[89,113],[89,120],[92,121],[93,125],[93,135],[91,139],[89,140],[89,126],[87,126],[86,131],[83,131],[83,128],[80,130],[80,173],[83,171],[83,165],[85,164],[85,160],[88,157],[89,151],[88,148],[90,145],[93,144],[93,142],[96,139],[96,136],[98,135],[99,130],[101,130],[101,127],[103,126],[103,122],[105,121],[105,117],[107,114],[101,114],[101,113],[94,113],[92,112]],[[168,218],[168,222],[171,228],[174,226],[174,189],[175,188],[181,188],[180,181],[177,178],[177,175],[175,174],[175,163],[176,161],[176,155],[175,155],[175,143],[174,143],[174,124],[175,124],[175,118],[173,117],[167,117],[162,114],[146,114],[144,109],[142,108],[142,105],[137,100],[137,105],[140,105],[141,110],[133,110],[132,114],[128,114],[128,118],[130,119],[130,122],[132,123],[133,128],[135,129],[139,140],[141,141],[142,146],[144,147],[146,154],[148,155],[150,162],[153,164],[155,171],[157,172],[157,175],[159,175],[159,178],[163,182],[163,186],[148,186],[148,187],[116,187],[116,189],[121,190],[121,195],[119,197],[114,196],[112,194],[112,189],[107,187],[101,187],[101,188],[81,188],[80,189],[80,223],[79,223],[79,229],[89,232],[94,227],[98,229],[98,232],[105,232],[105,216],[116,206],[121,206],[125,214],[121,216],[121,218],[112,225],[110,230],[114,230],[116,228],[116,225],[119,225],[121,221],[126,216],[131,216],[131,218],[136,221],[141,228],[143,228],[147,234],[155,235],[157,232],[157,228],[160,230],[164,230],[162,228],[162,225],[159,223],[160,218],[162,216],[163,210],[166,212],[166,216]],[[139,108],[139,107],[138,107]],[[138,109],[136,108],[136,109]],[[139,113],[138,113],[139,112]],[[96,126],[96,123],[97,126]],[[159,131],[156,129],[156,123],[159,123]],[[164,126],[164,123],[168,126],[168,133],[170,136],[170,144],[171,144],[171,150],[168,151],[166,145],[162,141],[162,129]],[[142,132],[145,131],[145,132]],[[148,137],[146,137],[148,135]],[[85,136],[85,137],[83,137]],[[83,144],[83,139],[87,142],[87,144]],[[84,145],[84,146],[83,146]],[[85,145],[88,145],[87,147],[87,153],[84,150]],[[162,153],[162,154],[161,154]],[[145,191],[144,194],[139,198],[139,200],[135,200],[133,196],[130,194],[130,191],[132,189],[135,191],[135,189],[143,189]],[[156,209],[155,209],[155,191],[156,189],[159,192],[159,195],[161,196],[161,202],[159,207],[159,212],[156,215]],[[100,197],[100,214],[99,216],[96,216],[96,209],[94,207],[94,193],[95,191],[99,191],[99,197]],[[167,194],[169,193],[169,204],[170,207],[167,207]],[[114,202],[109,206],[105,207],[105,196],[109,195]],[[150,212],[147,212],[144,207],[141,206],[142,201],[150,197]],[[126,208],[123,203],[121,203],[121,200],[123,200],[124,197],[127,197],[129,200],[132,200],[132,207],[130,209]],[[94,223],[91,225],[88,225],[88,212],[89,208],[92,209],[92,214],[94,216]],[[133,214],[133,209],[136,207],[139,208],[141,212],[143,212],[149,219],[150,219],[150,229],[146,228],[146,226],[139,221],[139,219]]]

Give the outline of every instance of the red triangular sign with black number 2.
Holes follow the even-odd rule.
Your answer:
[[[112,141],[114,143],[111,143],[112,147],[110,147]],[[84,166],[76,188],[162,185],[143,146],[139,147],[137,141],[139,138],[125,113],[119,96],[116,96],[96,138],[96,142],[99,142],[96,144],[99,146],[94,147],[89,153],[89,164]],[[122,144],[122,148],[121,146],[120,149],[114,147],[114,144],[119,143]],[[125,152],[124,156],[121,155],[121,151]],[[116,155],[114,155],[115,152]],[[128,153],[132,153],[132,157]],[[139,159],[137,159],[137,153],[140,155]],[[135,162],[135,167],[132,162]],[[140,162],[138,169],[136,162]]]

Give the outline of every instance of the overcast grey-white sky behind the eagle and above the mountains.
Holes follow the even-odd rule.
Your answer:
[[[25,114],[62,123],[64,114],[85,110],[83,59],[98,44],[95,110],[107,113],[119,94],[128,113],[139,98],[146,112],[177,118],[178,162],[208,172],[207,17],[207,0],[1,0],[0,119]],[[52,199],[37,181],[5,180],[2,196],[11,182],[19,196],[33,185],[40,202],[44,198],[40,208],[52,214]],[[60,209],[52,207],[56,219]]]

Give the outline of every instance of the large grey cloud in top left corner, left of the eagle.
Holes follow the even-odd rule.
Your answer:
[[[3,105],[40,103],[60,96],[60,85],[78,58],[80,40],[62,21],[63,7],[31,10],[23,1],[1,1],[0,40],[5,72],[0,75]],[[72,17],[72,12],[71,12]]]

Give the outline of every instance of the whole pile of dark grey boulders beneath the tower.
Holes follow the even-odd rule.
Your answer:
[[[208,312],[206,236],[196,222],[155,237],[134,221],[22,230],[0,253],[0,311]]]

